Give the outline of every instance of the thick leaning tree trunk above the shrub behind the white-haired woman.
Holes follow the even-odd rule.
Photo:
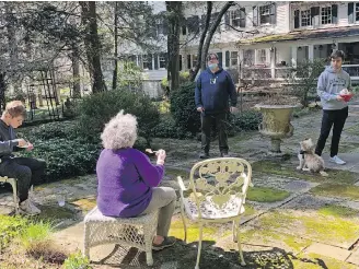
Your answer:
[[[101,70],[101,46],[97,34],[96,2],[80,1],[82,23],[85,25],[84,44],[89,61],[90,75],[93,81],[92,92],[106,90]]]

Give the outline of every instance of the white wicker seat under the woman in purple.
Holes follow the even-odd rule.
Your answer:
[[[155,211],[137,218],[112,218],[103,215],[95,207],[84,218],[84,255],[90,259],[90,247],[117,244],[146,252],[147,265],[152,266],[158,217]]]

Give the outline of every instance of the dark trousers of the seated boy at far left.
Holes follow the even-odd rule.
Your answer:
[[[20,202],[28,198],[28,189],[33,184],[43,182],[46,162],[32,157],[4,159],[0,163],[0,175],[18,179]]]

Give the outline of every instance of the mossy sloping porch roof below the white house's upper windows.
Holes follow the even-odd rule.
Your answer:
[[[263,44],[273,42],[290,42],[299,39],[313,39],[313,38],[339,38],[359,36],[358,26],[348,27],[335,27],[335,28],[324,28],[324,30],[302,30],[293,31],[287,34],[275,34],[258,36],[254,38],[246,38],[238,40],[238,45],[250,45],[250,44]]]

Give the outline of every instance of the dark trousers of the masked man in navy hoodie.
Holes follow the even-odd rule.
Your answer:
[[[215,125],[218,131],[219,140],[219,151],[221,153],[228,154],[228,138],[227,138],[227,114],[213,114],[213,115],[204,115],[201,114],[201,149],[207,154],[209,152],[210,145],[210,132],[212,126]]]

